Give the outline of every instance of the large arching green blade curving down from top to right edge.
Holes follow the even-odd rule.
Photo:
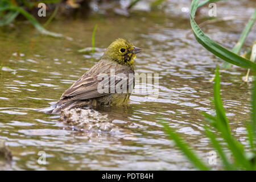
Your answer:
[[[224,61],[237,65],[238,67],[250,68],[256,71],[255,63],[252,63],[250,60],[247,60],[241,56],[238,56],[236,53],[233,53],[228,49],[220,46],[219,44],[217,44],[216,42],[211,40],[207,35],[204,34],[204,32],[200,29],[200,27],[196,24],[195,20],[193,19],[196,14],[198,4],[199,4],[199,0],[192,0],[191,14],[190,14],[191,27],[196,40],[200,44],[202,44],[202,46],[208,49],[208,51],[212,52],[214,55],[220,57]]]

